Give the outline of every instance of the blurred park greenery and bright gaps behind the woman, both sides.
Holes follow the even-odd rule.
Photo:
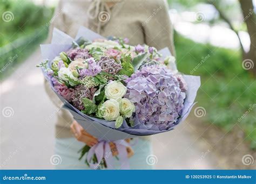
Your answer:
[[[250,147],[256,149],[255,1],[168,2],[178,69],[184,74],[201,76],[197,97],[197,106],[205,109],[201,121],[227,132],[238,125]],[[15,12],[13,20],[10,17],[11,20],[4,21],[4,15],[0,20],[1,81],[46,39],[45,25],[55,5],[56,1],[21,4],[1,0],[1,13]],[[247,8],[242,10],[243,7]],[[247,69],[243,62],[246,59],[254,67]]]

